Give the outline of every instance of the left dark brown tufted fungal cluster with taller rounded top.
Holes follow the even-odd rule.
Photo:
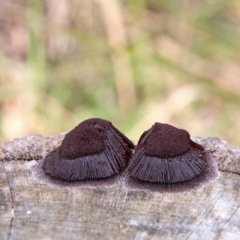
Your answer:
[[[110,122],[88,119],[66,134],[62,145],[47,155],[43,170],[68,181],[107,178],[127,166],[134,148]]]

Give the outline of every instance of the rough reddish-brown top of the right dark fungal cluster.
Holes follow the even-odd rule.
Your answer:
[[[177,156],[187,151],[189,141],[187,131],[168,124],[155,123],[146,143],[146,155],[160,158]]]

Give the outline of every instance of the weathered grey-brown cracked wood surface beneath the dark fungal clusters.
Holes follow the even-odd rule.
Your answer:
[[[62,138],[27,136],[0,148],[0,239],[240,239],[240,149],[198,138],[220,174],[194,191],[57,189],[27,166]]]

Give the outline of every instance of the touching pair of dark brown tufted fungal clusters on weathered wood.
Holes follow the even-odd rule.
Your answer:
[[[66,134],[43,163],[45,174],[65,181],[111,178],[125,172],[138,184],[178,184],[204,175],[204,147],[187,131],[155,123],[135,145],[109,121],[93,118]]]

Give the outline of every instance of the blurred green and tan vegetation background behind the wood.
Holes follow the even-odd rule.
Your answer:
[[[2,0],[0,138],[107,119],[240,146],[239,0]]]

